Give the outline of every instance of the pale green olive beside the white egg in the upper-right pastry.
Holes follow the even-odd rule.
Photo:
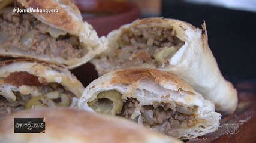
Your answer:
[[[164,63],[165,61],[173,57],[173,55],[177,52],[177,50],[178,49],[175,46],[164,47],[161,51],[155,52],[153,57],[158,63]]]

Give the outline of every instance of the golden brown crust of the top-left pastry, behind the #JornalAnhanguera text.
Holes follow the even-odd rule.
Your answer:
[[[76,15],[80,15],[80,12],[76,5],[72,1],[54,1],[54,0],[17,0],[23,7],[28,8],[40,8],[40,9],[57,9],[58,13],[32,13],[37,17],[43,18],[43,21],[49,23],[62,30],[79,31],[80,24],[77,20],[74,20],[74,15],[70,14],[65,8],[61,7],[61,4],[68,5]],[[77,17],[76,17],[77,18]],[[80,19],[79,19],[80,20]],[[82,22],[82,20],[80,20]]]

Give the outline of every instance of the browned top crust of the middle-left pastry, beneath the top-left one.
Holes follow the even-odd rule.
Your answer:
[[[68,71],[68,69],[56,66],[54,64],[43,63],[41,61],[31,59],[15,59],[0,62],[0,69],[0,71],[2,71],[0,73],[4,74],[4,77],[8,77],[9,73],[26,71],[31,74],[31,77],[34,75],[36,77],[38,76],[39,78],[37,78],[37,80],[35,78],[28,80],[28,74],[26,74],[26,77],[19,77],[20,75],[22,76],[22,74],[16,73],[16,79],[12,77],[10,80],[8,80],[8,83],[13,83],[14,86],[38,86],[37,81],[39,81],[42,85],[56,82],[64,86],[67,91],[72,92],[74,95],[76,95],[76,97],[80,97],[84,89],[82,83],[80,83],[79,80],[77,80],[76,77],[71,74],[70,71]],[[19,80],[17,80],[17,77],[19,77]],[[0,79],[0,83],[5,84],[6,81],[4,81],[4,79],[5,78],[3,78],[2,81]]]

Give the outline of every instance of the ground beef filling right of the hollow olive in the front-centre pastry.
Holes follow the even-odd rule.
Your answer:
[[[139,104],[134,98],[128,98],[124,102],[119,116],[130,118],[134,113],[135,107]],[[173,109],[172,109],[173,108]],[[145,126],[153,127],[164,124],[164,132],[171,134],[171,130],[179,128],[180,125],[192,127],[195,123],[195,117],[175,111],[171,104],[161,103],[154,105],[144,105],[141,107],[141,116]]]

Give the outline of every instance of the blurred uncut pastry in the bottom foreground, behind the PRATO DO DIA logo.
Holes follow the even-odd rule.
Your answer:
[[[176,141],[125,119],[74,108],[41,108],[12,114],[0,121],[0,139],[1,136],[12,135],[12,138],[20,138],[21,142],[27,139],[30,142],[37,141],[38,136],[33,133],[23,133],[20,135],[22,137],[13,134],[14,117],[46,118],[46,133],[38,134],[44,136],[45,142],[53,142],[55,139],[59,142],[147,142],[151,136],[165,142]]]

